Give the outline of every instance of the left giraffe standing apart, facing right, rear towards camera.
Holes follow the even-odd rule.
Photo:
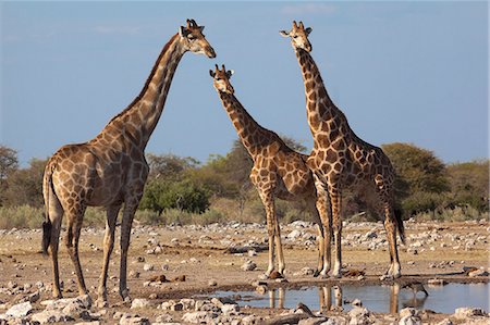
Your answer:
[[[48,161],[42,182],[46,205],[42,250],[51,252],[53,297],[61,298],[58,247],[63,214],[66,215],[65,246],[75,266],[78,293],[88,295],[78,259],[78,238],[87,207],[107,210],[103,264],[98,285],[98,305],[107,305],[107,275],[114,246],[115,221],[124,203],[121,224],[119,293],[131,301],[126,286],[127,251],[134,213],[148,175],[145,148],[154,132],[185,52],[216,53],[203,34],[204,26],[187,20],[186,27],[163,47],[140,93],[91,140],[61,147]]]

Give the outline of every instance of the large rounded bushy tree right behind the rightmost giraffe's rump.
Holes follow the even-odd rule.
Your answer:
[[[448,171],[432,151],[400,142],[382,149],[395,168],[397,205],[409,214],[444,208],[450,190]]]

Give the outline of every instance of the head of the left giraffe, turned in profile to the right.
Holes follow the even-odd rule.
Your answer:
[[[187,20],[187,26],[179,28],[179,36],[185,51],[206,54],[208,58],[216,58],[216,52],[203,34],[204,26],[197,25],[196,21]]]

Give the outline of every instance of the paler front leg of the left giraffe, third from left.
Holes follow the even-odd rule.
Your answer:
[[[107,209],[106,234],[103,236],[103,264],[102,273],[99,278],[99,287],[97,290],[97,307],[105,308],[107,303],[107,275],[109,272],[109,260],[114,248],[115,221],[121,205],[113,205]]]

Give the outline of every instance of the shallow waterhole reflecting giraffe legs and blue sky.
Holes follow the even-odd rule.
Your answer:
[[[400,285],[392,286],[322,286],[299,289],[278,288],[260,295],[256,291],[217,291],[213,297],[230,297],[241,305],[256,308],[292,309],[303,302],[313,310],[330,310],[342,307],[348,311],[348,303],[359,299],[368,310],[381,313],[396,313],[406,307],[419,310],[428,309],[438,313],[454,313],[456,308],[471,307],[489,311],[489,284],[449,284],[429,287],[429,292],[418,292],[415,297],[411,289]],[[240,297],[240,299],[237,299]]]

